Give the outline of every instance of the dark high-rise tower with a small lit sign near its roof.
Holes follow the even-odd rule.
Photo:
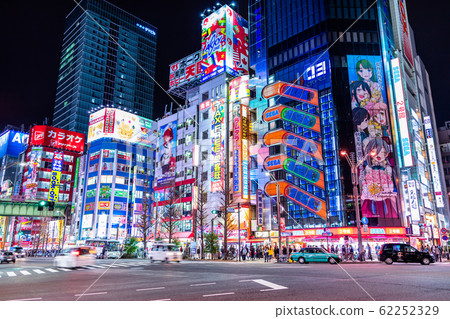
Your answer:
[[[124,10],[80,1],[66,18],[53,125],[86,134],[101,105],[152,118],[156,40],[154,26]]]

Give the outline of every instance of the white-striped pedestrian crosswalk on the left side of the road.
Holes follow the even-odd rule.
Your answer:
[[[0,279],[1,278],[11,278],[18,276],[31,276],[31,275],[44,275],[44,274],[52,274],[52,273],[60,273],[60,272],[71,272],[71,271],[81,271],[81,270],[106,270],[108,268],[129,268],[129,267],[138,267],[148,265],[148,261],[140,261],[140,262],[130,262],[130,263],[114,263],[114,264],[101,264],[101,265],[89,265],[89,266],[81,266],[78,268],[59,268],[59,267],[51,267],[51,268],[37,268],[37,269],[28,269],[28,270],[14,270],[14,271],[1,271],[0,269]]]

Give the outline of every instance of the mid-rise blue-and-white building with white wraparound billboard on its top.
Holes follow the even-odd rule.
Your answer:
[[[72,206],[76,239],[143,237],[138,224],[150,219],[153,202],[154,124],[112,108],[91,114]]]

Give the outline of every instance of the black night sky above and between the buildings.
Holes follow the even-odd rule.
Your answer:
[[[125,11],[158,28],[156,80],[168,88],[169,64],[200,49],[200,13],[216,2],[110,0]],[[239,13],[247,17],[247,1]],[[222,4],[231,3],[223,1]],[[445,3],[445,4],[444,4]],[[407,1],[418,54],[430,74],[438,126],[450,120],[446,92],[450,84],[448,30],[449,1]],[[0,1],[0,129],[6,124],[42,123],[50,120],[56,95],[64,21],[73,0]],[[155,86],[154,117],[171,99]]]

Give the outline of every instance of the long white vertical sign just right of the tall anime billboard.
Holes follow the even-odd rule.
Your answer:
[[[400,60],[395,58],[391,60],[392,74],[394,78],[395,101],[397,103],[397,118],[400,127],[400,138],[402,145],[402,157],[405,167],[413,166],[411,152],[411,141],[409,139],[408,118],[406,116],[406,103],[403,92],[402,73],[400,71]]]

